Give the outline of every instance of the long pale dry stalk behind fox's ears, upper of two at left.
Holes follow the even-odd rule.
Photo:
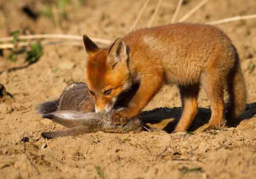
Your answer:
[[[59,39],[72,39],[82,41],[82,36],[80,35],[65,35],[65,34],[37,34],[37,35],[20,35],[19,40],[28,40],[28,39],[44,39],[44,38],[59,38]],[[12,41],[13,37],[4,37],[0,38],[0,42]],[[107,39],[100,38],[91,38],[95,43],[109,44],[112,41]]]

